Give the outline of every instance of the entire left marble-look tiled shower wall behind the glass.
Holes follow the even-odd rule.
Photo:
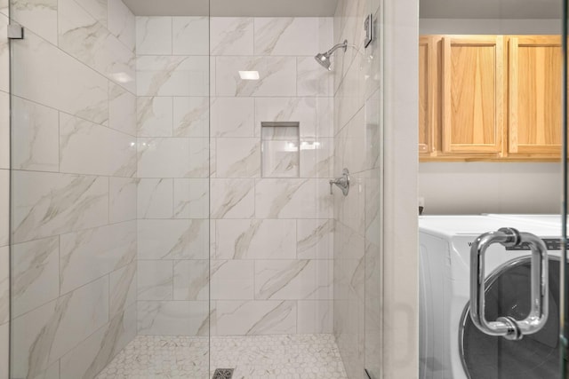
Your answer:
[[[134,17],[12,3],[13,376],[90,378],[136,335]]]

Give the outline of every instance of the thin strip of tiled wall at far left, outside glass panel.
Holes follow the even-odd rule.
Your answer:
[[[10,98],[9,55],[6,26],[8,2],[0,1],[0,379],[8,379],[8,346],[10,330]]]

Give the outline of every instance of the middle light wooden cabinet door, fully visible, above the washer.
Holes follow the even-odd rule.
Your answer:
[[[502,36],[443,38],[443,153],[501,156]]]

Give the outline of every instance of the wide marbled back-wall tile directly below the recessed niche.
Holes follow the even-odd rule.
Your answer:
[[[314,179],[257,179],[255,217],[315,218],[316,186]]]

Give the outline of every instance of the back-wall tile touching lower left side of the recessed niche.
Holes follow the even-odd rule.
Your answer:
[[[259,138],[217,138],[217,178],[259,178]]]

